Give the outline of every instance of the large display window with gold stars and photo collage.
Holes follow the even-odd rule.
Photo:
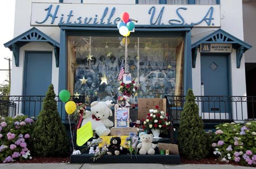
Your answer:
[[[91,103],[117,101],[121,65],[140,84],[129,99],[183,95],[183,37],[68,36],[68,90]],[[125,57],[126,56],[126,57]],[[130,77],[129,77],[130,78]]]

